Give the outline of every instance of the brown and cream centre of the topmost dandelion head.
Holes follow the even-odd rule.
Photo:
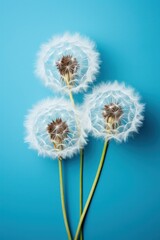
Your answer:
[[[74,79],[79,68],[77,59],[70,55],[63,56],[62,59],[56,63],[56,66],[66,84],[73,86]]]

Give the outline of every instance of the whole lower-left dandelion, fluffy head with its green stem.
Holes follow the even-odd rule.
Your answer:
[[[67,219],[62,159],[71,157],[86,143],[86,134],[79,119],[80,113],[64,99],[46,99],[38,103],[26,117],[26,139],[30,147],[40,155],[58,158],[60,193],[64,223],[71,240],[71,231]]]

